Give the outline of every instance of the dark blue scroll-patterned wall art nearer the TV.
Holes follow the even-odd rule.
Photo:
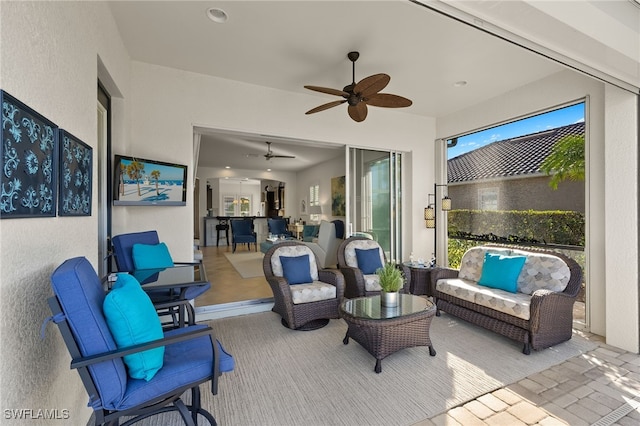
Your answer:
[[[59,130],[60,189],[58,215],[91,216],[93,150],[66,130]]]

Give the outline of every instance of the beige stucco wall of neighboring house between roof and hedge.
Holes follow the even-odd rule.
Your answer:
[[[455,209],[482,209],[481,191],[497,193],[497,210],[567,210],[584,213],[584,182],[564,181],[554,190],[546,176],[456,183],[448,187]]]

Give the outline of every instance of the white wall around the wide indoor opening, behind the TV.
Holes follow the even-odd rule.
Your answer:
[[[303,112],[309,105],[317,104],[317,97],[312,95],[136,61],[132,63],[131,90],[131,138],[122,144],[114,144],[114,153],[171,159],[191,168],[193,127],[196,126],[413,151],[414,158],[419,158],[421,164],[433,164],[435,121],[430,118],[388,109],[371,112],[369,119],[362,123],[352,121],[344,110],[338,109],[308,117]],[[211,177],[200,172],[198,176],[201,179]],[[409,178],[432,183],[433,169],[421,167]],[[176,258],[186,258],[192,254],[192,188],[193,183],[190,183],[186,207],[115,207],[114,234],[154,227],[170,245],[172,254],[175,251]],[[426,205],[425,191],[416,189],[410,194],[420,206]],[[287,209],[290,208],[287,204]],[[421,210],[413,213],[416,222],[421,224]],[[424,246],[416,251],[427,252],[429,235],[433,233],[423,226],[414,231],[414,245]]]

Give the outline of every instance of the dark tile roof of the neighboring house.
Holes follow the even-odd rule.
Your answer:
[[[493,142],[447,162],[449,183],[538,175],[553,145],[567,135],[584,135],[584,123]]]

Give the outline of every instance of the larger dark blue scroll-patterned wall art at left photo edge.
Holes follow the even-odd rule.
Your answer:
[[[58,127],[0,90],[0,219],[56,215]]]

